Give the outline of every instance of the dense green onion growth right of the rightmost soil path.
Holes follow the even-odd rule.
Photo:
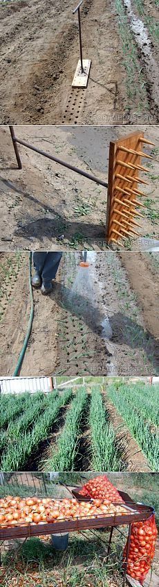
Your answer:
[[[147,457],[153,471],[159,468],[158,436],[159,386],[143,383],[108,386],[108,395],[129,427],[133,437]]]

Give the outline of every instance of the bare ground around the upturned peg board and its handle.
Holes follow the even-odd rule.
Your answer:
[[[158,126],[138,126],[156,147],[145,153],[149,185],[142,197],[140,238],[123,241],[126,249],[148,249],[158,238]],[[35,147],[107,181],[109,142],[129,133],[127,126],[18,126],[17,136]],[[1,219],[0,249],[106,249],[107,190],[19,146],[23,168],[16,168],[8,127],[1,127]],[[143,160],[144,161],[144,160]],[[146,239],[142,240],[142,237]],[[120,249],[120,245],[113,248]]]

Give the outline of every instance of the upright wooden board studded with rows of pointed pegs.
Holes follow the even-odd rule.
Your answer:
[[[141,171],[149,172],[149,169],[142,165],[142,157],[153,159],[151,155],[144,153],[144,144],[153,145],[140,131],[110,143],[106,210],[108,243],[125,240],[130,236],[140,236],[138,229],[141,226],[137,221],[138,217],[140,219],[143,216],[142,208],[145,206],[139,198],[145,195],[143,186],[149,185],[140,177]]]

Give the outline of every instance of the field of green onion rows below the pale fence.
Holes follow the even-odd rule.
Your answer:
[[[2,396],[1,470],[158,471],[158,392],[115,381]]]

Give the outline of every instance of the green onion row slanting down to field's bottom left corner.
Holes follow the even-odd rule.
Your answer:
[[[67,389],[62,395],[48,396],[48,406],[44,413],[37,417],[31,431],[24,430],[14,444],[8,445],[1,457],[1,470],[23,470],[30,456],[38,449],[41,442],[47,439],[53,424],[57,421],[60,409],[71,399],[72,390]]]

